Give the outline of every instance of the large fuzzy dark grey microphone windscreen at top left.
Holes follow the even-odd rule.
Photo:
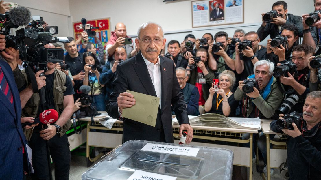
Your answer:
[[[31,21],[31,12],[26,7],[14,7],[9,11],[9,18],[14,25],[27,26]]]

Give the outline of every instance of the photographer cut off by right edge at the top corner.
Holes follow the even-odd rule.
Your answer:
[[[314,10],[321,10],[321,0],[314,0]],[[320,17],[321,14],[320,12],[318,13],[318,17]],[[320,43],[320,38],[319,38],[319,31],[321,28],[321,21],[318,20],[316,23],[314,23],[311,27],[309,27],[306,23],[305,20],[310,17],[309,14],[303,14],[303,41],[302,44],[308,44],[313,47],[314,50],[318,48],[315,51],[314,55],[320,55],[321,51],[319,51],[319,43]]]

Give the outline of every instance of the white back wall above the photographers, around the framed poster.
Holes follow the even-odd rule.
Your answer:
[[[199,30],[200,28],[192,29],[191,1],[163,3],[163,0],[69,0],[69,7],[73,22],[80,21],[81,18],[91,20],[110,17],[112,30],[117,22],[123,22],[127,27],[127,35],[136,35],[139,25],[146,21],[159,23],[165,33]],[[262,22],[261,14],[270,11],[276,0],[244,1],[244,23],[251,24]],[[285,2],[288,3],[288,13],[301,16],[314,11],[313,0]]]

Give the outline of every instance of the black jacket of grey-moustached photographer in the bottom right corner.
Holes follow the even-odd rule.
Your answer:
[[[276,127],[274,120],[270,124],[270,129],[277,133],[282,130]],[[299,126],[301,130],[302,121]],[[303,127],[306,126],[303,120]],[[317,130],[312,137],[304,137]],[[298,137],[288,136],[287,140],[287,164],[291,180],[320,180],[321,179],[321,124],[317,124],[311,130],[307,130]]]

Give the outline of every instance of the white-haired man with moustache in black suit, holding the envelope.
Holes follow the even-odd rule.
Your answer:
[[[152,127],[131,119],[123,119],[123,142],[129,140],[147,140],[173,143],[171,110],[177,115],[179,135],[187,130],[186,143],[193,138],[193,129],[189,125],[186,104],[178,84],[172,60],[159,56],[166,39],[160,25],[147,22],[138,29],[136,45],[141,52],[117,65],[113,82],[114,92],[107,104],[108,114],[119,119],[124,108],[135,105],[131,90],[138,93],[160,97],[156,126]]]

